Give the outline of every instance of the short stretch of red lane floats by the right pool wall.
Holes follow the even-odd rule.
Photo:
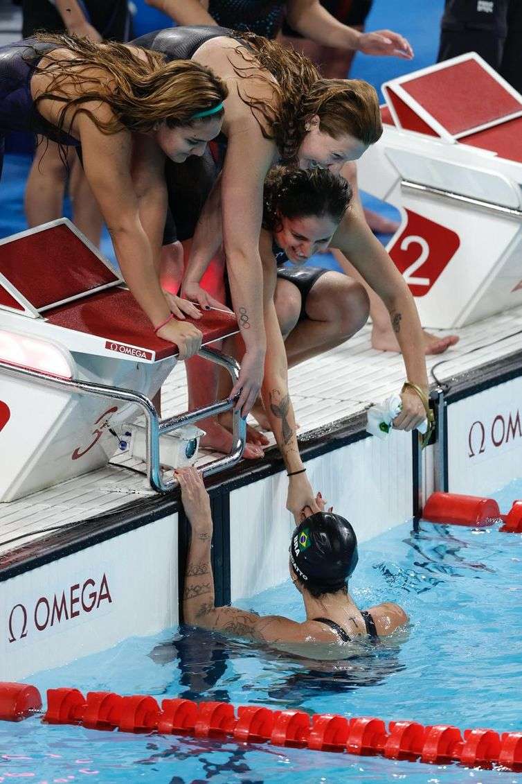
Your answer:
[[[499,504],[491,498],[434,492],[423,509],[423,520],[430,523],[469,525],[485,528],[501,520],[499,531],[522,533],[522,501],[515,501],[509,514],[500,514]]]

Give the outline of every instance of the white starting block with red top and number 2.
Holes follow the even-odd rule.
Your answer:
[[[522,303],[522,96],[475,53],[383,85],[359,185],[401,211],[387,246],[425,327]]]

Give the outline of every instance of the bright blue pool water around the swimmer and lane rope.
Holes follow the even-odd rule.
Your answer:
[[[507,511],[522,481],[495,495]],[[295,707],[520,730],[522,536],[421,524],[394,528],[360,548],[351,592],[362,608],[394,600],[407,634],[359,645],[344,662],[306,662],[217,634],[167,630],[28,679],[46,688],[185,696],[236,705]],[[259,612],[303,613],[291,583],[244,602]],[[379,757],[240,746],[175,736],[45,726],[37,717],[0,724],[0,782],[522,782],[508,771],[470,770]]]

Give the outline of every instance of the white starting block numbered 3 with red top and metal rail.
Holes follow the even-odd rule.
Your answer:
[[[203,345],[238,331],[232,314],[194,322]],[[227,368],[235,360],[202,348]],[[232,408],[221,401],[161,420],[150,400],[173,370],[178,347],[157,337],[123,279],[67,219],[0,241],[0,502],[105,466],[118,433],[146,419],[146,463],[158,491],[160,436]],[[246,425],[234,413],[234,447],[205,474],[243,454]]]

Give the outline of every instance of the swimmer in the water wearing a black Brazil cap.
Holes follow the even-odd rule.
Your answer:
[[[192,527],[183,594],[185,623],[263,641],[308,658],[331,659],[343,656],[342,649],[333,646],[387,637],[408,622],[408,615],[394,602],[358,609],[348,593],[348,579],[358,561],[354,529],[331,509],[324,511],[326,502],[319,493],[316,503],[321,511],[310,514],[305,507],[290,540],[290,577],[303,598],[306,620],[299,623],[283,615],[215,607],[210,499],[195,468],[175,470],[175,476]],[[322,648],[314,652],[311,644]]]

